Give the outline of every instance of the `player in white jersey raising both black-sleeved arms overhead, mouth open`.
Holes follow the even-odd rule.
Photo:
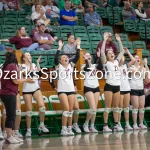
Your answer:
[[[70,63],[69,58],[66,55],[62,55],[60,57],[60,63],[58,62],[58,55],[62,47],[63,42],[59,41],[59,48],[56,52],[54,60],[56,70],[58,70],[59,75],[57,93],[63,109],[61,135],[74,135],[74,133],[72,132],[72,115],[76,95],[72,73],[73,68],[79,59],[80,41],[77,42],[76,56]]]

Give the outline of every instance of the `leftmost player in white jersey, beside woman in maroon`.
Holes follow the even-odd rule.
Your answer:
[[[38,108],[39,108],[39,116],[40,116],[40,125],[39,130],[48,133],[49,130],[44,125],[44,116],[45,116],[45,106],[43,96],[38,84],[38,76],[41,76],[41,68],[40,68],[40,58],[37,59],[37,64],[32,63],[32,57],[29,53],[24,53],[21,57],[22,60],[22,71],[25,73],[30,72],[30,76],[33,78],[34,83],[24,83],[22,87],[23,98],[25,101],[27,115],[27,132],[26,137],[31,137],[31,117],[32,117],[32,97],[36,100]],[[38,75],[38,76],[37,76]]]

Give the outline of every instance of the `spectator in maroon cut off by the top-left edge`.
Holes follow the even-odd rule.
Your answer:
[[[21,4],[19,0],[5,0],[10,10],[21,10]]]

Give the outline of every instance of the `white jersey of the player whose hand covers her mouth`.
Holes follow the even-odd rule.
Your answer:
[[[85,64],[82,66],[82,69],[85,67]],[[84,86],[90,88],[97,88],[99,87],[98,78],[96,75],[97,69],[96,64],[92,64],[89,67],[90,71],[85,71],[85,79],[84,79]]]

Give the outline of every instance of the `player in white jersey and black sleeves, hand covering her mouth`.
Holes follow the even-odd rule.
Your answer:
[[[89,53],[86,53],[84,55],[84,59],[85,59],[85,65],[83,65],[83,71],[85,71],[84,94],[89,105],[89,111],[87,112],[86,121],[83,125],[83,130],[86,133],[98,132],[94,127],[97,105],[100,96],[97,70],[102,70],[103,65],[101,63],[100,57],[98,58],[98,64],[92,64],[92,57]],[[89,121],[91,121],[90,129],[89,129]]]

